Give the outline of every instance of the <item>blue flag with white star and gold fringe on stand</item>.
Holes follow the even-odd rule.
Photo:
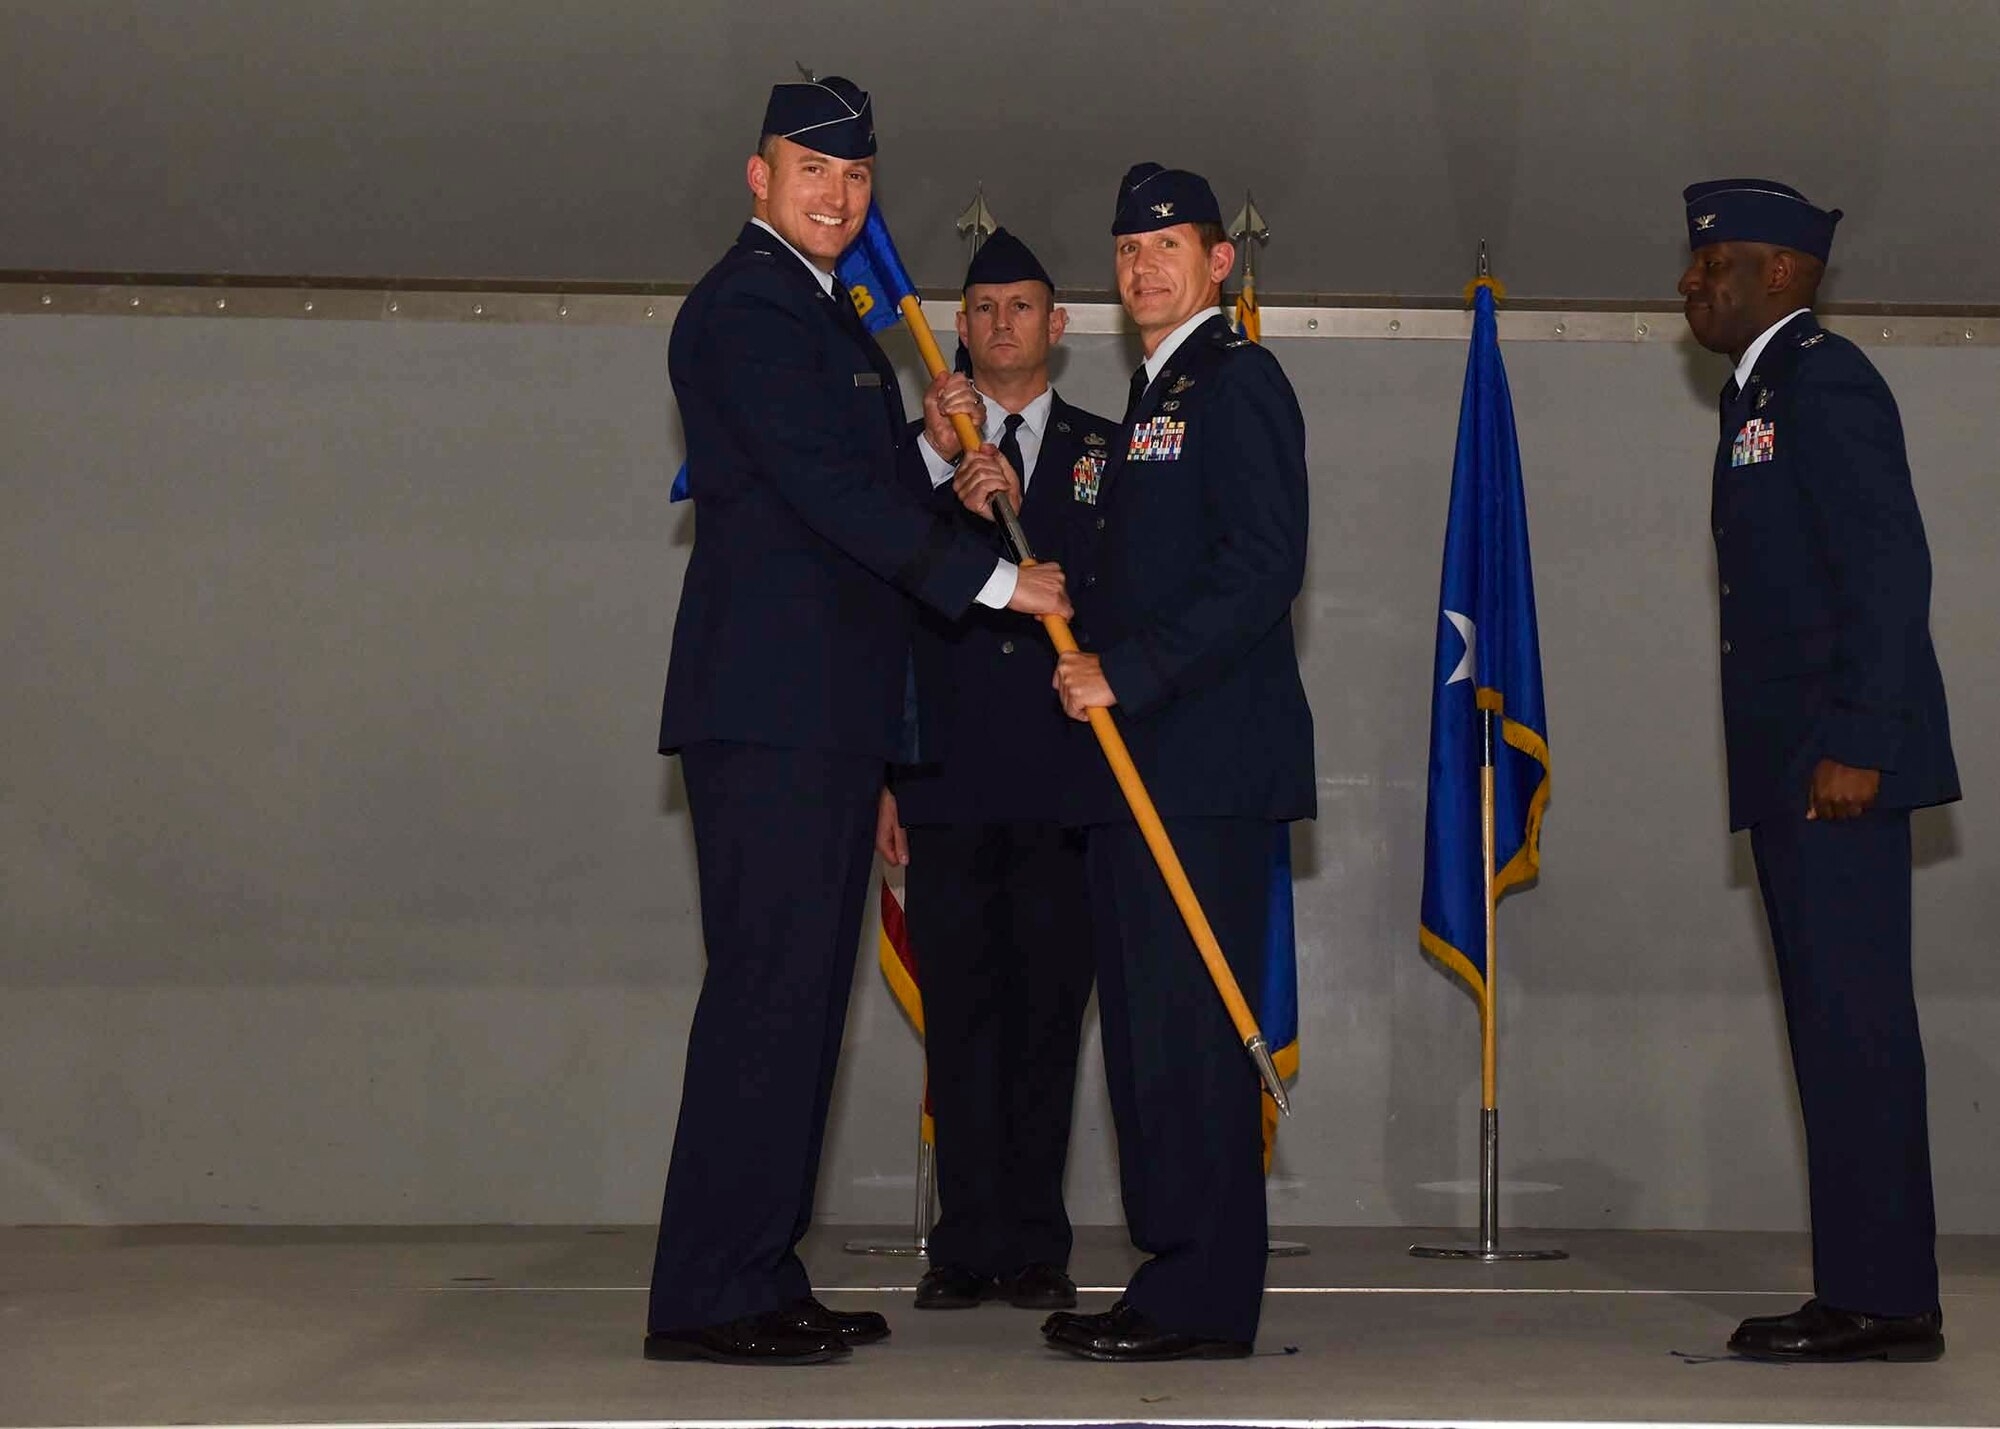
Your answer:
[[[1500,362],[1494,292],[1474,294],[1444,526],[1424,811],[1424,951],[1486,997],[1486,867],[1480,841],[1480,710],[1494,712],[1494,901],[1542,867],[1548,712],[1528,562],[1514,398]]]

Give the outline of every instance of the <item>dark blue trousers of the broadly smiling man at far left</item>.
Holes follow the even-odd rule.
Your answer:
[[[860,953],[882,759],[680,751],[708,973],[688,1033],[648,1327],[696,1329],[812,1293],[834,1063]]]

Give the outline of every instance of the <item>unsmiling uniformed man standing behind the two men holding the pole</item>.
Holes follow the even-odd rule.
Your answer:
[[[1020,238],[994,232],[966,268],[958,340],[972,380],[942,374],[910,428],[916,488],[1000,550],[992,520],[952,498],[964,412],[1020,474],[1020,522],[1060,558],[1074,492],[1094,492],[1114,422],[1048,384],[1068,312]],[[984,402],[982,402],[984,398]],[[1076,1099],[1076,1043],[1090,1001],[1084,841],[1062,825],[1070,721],[1048,692],[1056,654],[1028,616],[920,616],[920,765],[882,793],[876,847],[908,865],[906,917],[924,985],[924,1057],[938,1135],[942,1215],[918,1309],[1006,1299],[1076,1305],[1062,1169]]]

